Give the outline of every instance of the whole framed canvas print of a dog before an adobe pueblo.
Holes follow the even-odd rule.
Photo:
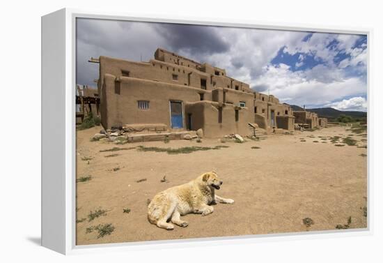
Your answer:
[[[369,233],[369,39],[366,29],[45,15],[42,245]]]

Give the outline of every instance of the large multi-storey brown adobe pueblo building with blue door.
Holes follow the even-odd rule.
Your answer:
[[[226,70],[157,49],[148,62],[111,57],[97,82],[102,126],[132,131],[187,132],[205,137],[294,130],[290,105],[253,92]],[[253,128],[253,131],[251,131]]]

